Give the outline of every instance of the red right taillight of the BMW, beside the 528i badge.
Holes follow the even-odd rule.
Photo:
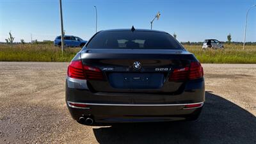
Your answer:
[[[169,81],[186,81],[200,79],[204,76],[204,70],[198,61],[190,63],[190,67],[175,68],[169,77]]]

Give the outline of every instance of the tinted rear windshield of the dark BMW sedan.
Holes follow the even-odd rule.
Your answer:
[[[88,49],[183,49],[168,33],[152,31],[102,31]]]

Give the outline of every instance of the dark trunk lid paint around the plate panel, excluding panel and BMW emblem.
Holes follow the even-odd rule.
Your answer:
[[[166,51],[164,50],[162,54],[155,54],[149,51],[147,53],[141,50],[134,50],[136,54],[131,50],[127,51],[116,51],[116,50],[93,50],[93,53],[84,53],[81,52],[81,60],[84,65],[91,65],[93,67],[98,67],[102,70],[106,81],[90,81],[92,87],[97,92],[176,92],[179,90],[182,83],[177,82],[168,82],[168,77],[173,68],[185,67],[189,65],[191,61],[195,61],[195,56],[189,52],[180,52],[180,51]],[[95,52],[95,53],[94,53]],[[112,52],[112,53],[110,53]],[[116,53],[118,52],[118,53]],[[161,52],[161,51],[157,51]],[[170,52],[170,54],[168,54]],[[141,67],[140,70],[135,70],[132,67],[134,61],[140,61]],[[113,70],[104,70],[104,68],[113,68]],[[171,70],[156,71],[156,68],[171,68]],[[122,88],[113,88],[108,81],[108,74],[111,72],[154,72],[164,75],[163,86],[159,89],[147,89],[147,90],[138,90],[138,89],[122,89]]]

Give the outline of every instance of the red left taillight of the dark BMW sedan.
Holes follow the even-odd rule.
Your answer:
[[[81,60],[71,61],[68,65],[68,77],[74,79],[102,80],[103,74],[99,68],[83,65]]]

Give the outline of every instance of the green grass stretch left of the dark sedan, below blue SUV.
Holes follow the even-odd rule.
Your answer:
[[[52,44],[0,45],[0,61],[71,61],[80,48],[64,49]]]

